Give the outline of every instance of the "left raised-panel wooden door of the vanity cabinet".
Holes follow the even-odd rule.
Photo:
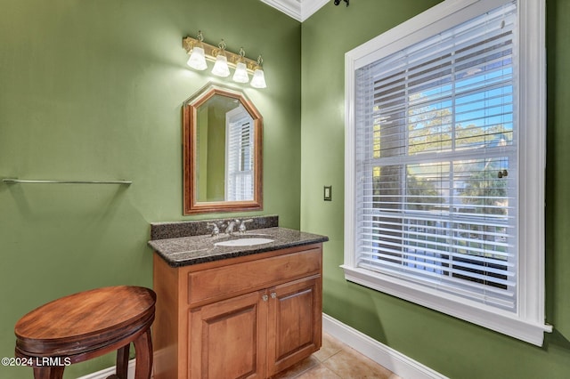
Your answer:
[[[265,291],[190,310],[191,378],[265,376]],[[260,353],[261,352],[261,353]]]

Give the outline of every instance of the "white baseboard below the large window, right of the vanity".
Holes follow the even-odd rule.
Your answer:
[[[355,351],[386,367],[403,379],[448,379],[447,376],[439,374],[325,313],[322,314],[322,331],[340,342],[346,343]]]

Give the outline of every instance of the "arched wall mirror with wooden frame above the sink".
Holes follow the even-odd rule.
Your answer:
[[[262,117],[245,94],[208,85],[183,106],[184,214],[262,209]]]

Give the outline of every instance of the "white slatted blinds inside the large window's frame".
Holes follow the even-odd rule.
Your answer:
[[[355,72],[357,266],[517,310],[517,6]]]

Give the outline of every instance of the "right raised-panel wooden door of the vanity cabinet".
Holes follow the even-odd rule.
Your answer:
[[[269,289],[268,375],[321,348],[322,278],[303,278]]]

